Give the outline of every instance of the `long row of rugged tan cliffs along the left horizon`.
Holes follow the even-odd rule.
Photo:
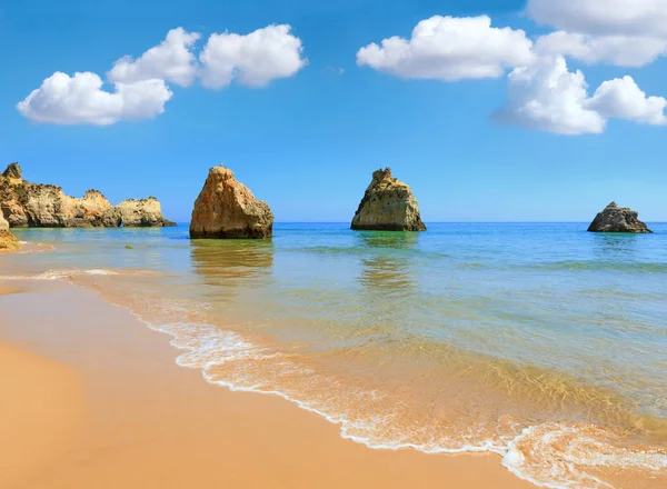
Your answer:
[[[0,176],[0,210],[12,228],[173,226],[155,198],[113,207],[98,190],[69,197],[60,187],[23,180],[18,163]]]

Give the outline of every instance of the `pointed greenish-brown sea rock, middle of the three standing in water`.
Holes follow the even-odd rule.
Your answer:
[[[391,169],[372,173],[372,181],[352,219],[352,229],[372,231],[426,231],[410,188],[391,177]]]

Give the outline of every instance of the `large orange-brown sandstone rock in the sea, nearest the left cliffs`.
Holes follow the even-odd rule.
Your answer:
[[[195,202],[190,238],[261,239],[273,233],[273,213],[222,166],[211,168]]]

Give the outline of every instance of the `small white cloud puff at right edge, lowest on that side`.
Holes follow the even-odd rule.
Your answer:
[[[667,100],[663,97],[646,97],[633,77],[605,81],[588,102],[588,107],[608,118],[655,126],[667,124]]]

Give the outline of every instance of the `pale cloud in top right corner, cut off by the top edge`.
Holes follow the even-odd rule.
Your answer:
[[[598,36],[667,36],[667,0],[528,0],[536,21]]]

